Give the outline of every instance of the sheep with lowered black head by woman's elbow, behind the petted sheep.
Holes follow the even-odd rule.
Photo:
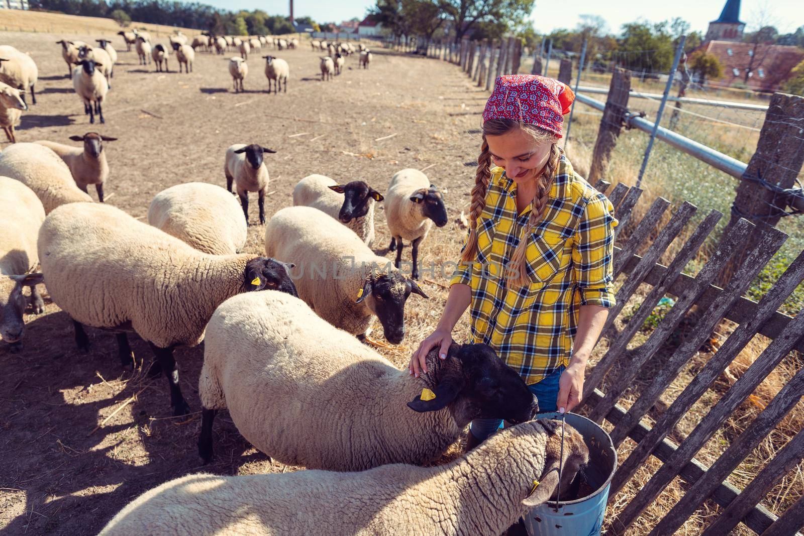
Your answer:
[[[299,296],[324,320],[361,342],[371,342],[367,331],[376,316],[385,338],[399,344],[408,297],[427,298],[415,281],[375,255],[354,231],[313,207],[287,207],[273,215],[265,226],[265,251],[279,260],[301,262],[295,279]],[[322,274],[330,268],[332,277]]]

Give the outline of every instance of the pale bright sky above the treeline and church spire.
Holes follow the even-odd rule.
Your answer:
[[[288,14],[289,2],[278,0],[199,0],[228,10],[261,9],[269,14]],[[539,33],[549,33],[556,28],[573,28],[580,14],[598,14],[608,23],[608,30],[619,33],[623,23],[637,18],[658,22],[668,18],[682,17],[691,23],[693,31],[706,32],[709,21],[716,19],[725,0],[673,0],[672,5],[650,0],[536,0],[529,19]],[[340,23],[352,17],[363,18],[366,10],[374,6],[373,0],[297,0],[293,4],[297,17],[310,15],[319,22]],[[760,18],[761,10],[781,33],[794,31],[804,25],[804,1],[802,0],[742,0],[740,20],[749,25],[749,30]]]

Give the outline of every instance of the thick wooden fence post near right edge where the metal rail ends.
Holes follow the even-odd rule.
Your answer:
[[[757,227],[746,237],[745,248],[721,272],[719,282],[728,281],[767,227],[774,227],[785,214],[788,201],[780,190],[793,188],[804,164],[802,150],[804,97],[774,93],[765,113],[765,123],[757,141],[757,151],[737,186],[732,217],[723,231],[728,235],[740,218]]]

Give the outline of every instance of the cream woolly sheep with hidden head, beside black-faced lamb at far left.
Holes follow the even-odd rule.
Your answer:
[[[16,143],[0,153],[0,176],[22,182],[39,197],[45,214],[65,203],[92,203],[52,149],[36,143]]]

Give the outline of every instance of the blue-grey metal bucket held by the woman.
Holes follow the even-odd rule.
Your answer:
[[[539,413],[536,419],[560,420],[560,413]],[[530,536],[597,536],[601,534],[609,487],[617,468],[617,450],[609,434],[597,423],[581,415],[568,413],[567,424],[583,436],[589,447],[589,464],[584,468],[586,483],[594,491],[573,501],[548,501],[524,516]],[[563,495],[563,493],[562,493]]]

